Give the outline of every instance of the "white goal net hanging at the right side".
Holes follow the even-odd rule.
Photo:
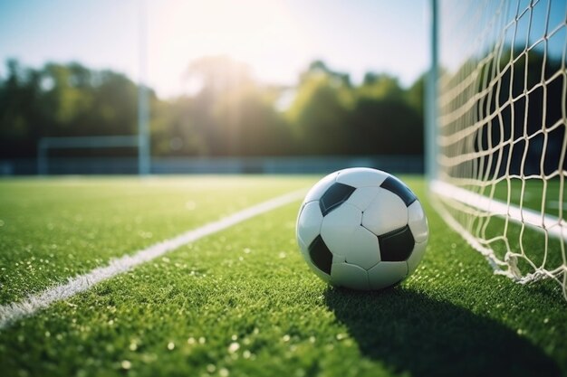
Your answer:
[[[437,209],[496,273],[567,299],[567,1],[433,9]]]

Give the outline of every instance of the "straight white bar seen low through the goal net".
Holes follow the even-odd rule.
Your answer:
[[[520,224],[524,223],[537,231],[545,231],[550,236],[567,240],[566,224],[562,219],[557,217],[542,214],[541,212],[536,212],[525,207],[519,208],[512,204],[507,205],[495,199],[490,199],[478,193],[472,193],[468,190],[440,181],[432,182],[431,189],[435,193],[465,203],[483,212],[492,213],[500,217],[507,217],[511,221]]]

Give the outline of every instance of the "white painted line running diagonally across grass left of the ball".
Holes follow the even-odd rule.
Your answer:
[[[248,220],[264,212],[269,212],[284,204],[293,203],[296,200],[302,199],[305,193],[306,190],[294,191],[293,193],[286,193],[267,202],[253,205],[245,210],[228,215],[221,220],[209,222],[195,230],[187,231],[172,239],[164,240],[146,249],[138,250],[133,255],[125,255],[119,259],[112,259],[107,266],[92,269],[91,272],[86,274],[69,278],[65,284],[50,287],[43,292],[24,298],[19,302],[2,305],[0,306],[0,330],[24,316],[34,315],[35,312],[50,306],[55,301],[72,297],[103,280],[115,277],[139,264],[158,258],[189,242],[199,240],[217,231],[225,230],[238,222]]]

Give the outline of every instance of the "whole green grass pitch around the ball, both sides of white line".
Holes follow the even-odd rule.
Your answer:
[[[2,181],[3,300],[317,178]],[[418,270],[397,287],[354,292],[316,278],[295,244],[299,203],[293,203],[0,330],[0,371],[7,376],[567,375],[567,303],[559,287],[519,286],[494,276],[485,259],[430,207],[424,180],[404,178],[424,203],[431,236]],[[197,203],[190,212],[188,201]],[[82,221],[73,221],[77,213]],[[104,221],[113,216],[111,224]],[[83,245],[77,233],[84,231],[97,236]],[[152,237],[140,237],[140,231]],[[52,243],[58,247],[41,246]],[[45,258],[48,272],[32,274],[20,263],[32,259],[43,267],[39,260]]]

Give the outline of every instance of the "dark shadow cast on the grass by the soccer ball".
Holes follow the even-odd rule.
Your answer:
[[[412,376],[559,376],[557,364],[514,331],[447,302],[395,287],[325,291],[360,352]]]

